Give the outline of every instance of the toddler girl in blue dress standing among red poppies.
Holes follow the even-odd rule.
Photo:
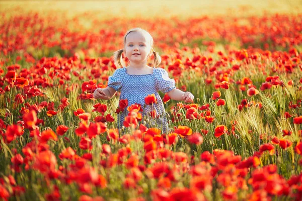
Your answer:
[[[129,65],[123,67],[122,53],[129,60]],[[154,65],[147,64],[149,56],[154,54]],[[158,91],[167,93],[171,99],[192,102],[194,96],[189,91],[183,92],[175,87],[174,79],[170,79],[168,72],[163,68],[156,68],[161,63],[160,55],[153,50],[153,38],[145,30],[135,28],[129,30],[124,36],[124,48],[114,53],[114,62],[118,68],[108,79],[106,88],[97,88],[94,91],[94,98],[110,99],[120,90],[120,100],[127,99],[128,106],[140,104],[142,116],[154,114],[157,128],[163,133],[168,132],[168,121],[162,99]],[[157,103],[145,105],[145,97],[155,94]],[[155,112],[154,112],[155,111]],[[121,128],[127,109],[120,114],[118,128]],[[159,116],[160,115],[160,116]],[[159,118],[157,118],[159,116]],[[152,126],[152,125],[148,125]]]

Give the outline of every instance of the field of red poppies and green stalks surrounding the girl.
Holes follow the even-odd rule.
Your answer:
[[[302,199],[302,14],[0,16],[0,200]],[[134,27],[195,97],[160,93],[168,133],[93,98]]]

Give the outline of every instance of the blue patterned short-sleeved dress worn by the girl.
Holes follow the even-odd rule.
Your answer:
[[[142,117],[148,115],[148,112],[155,111],[156,117],[160,115],[160,118],[151,118],[147,122],[147,127],[156,126],[160,128],[163,133],[169,131],[168,119],[165,113],[164,104],[158,93],[161,91],[163,93],[169,92],[175,87],[174,79],[170,79],[168,72],[163,68],[154,68],[152,74],[145,75],[129,75],[126,72],[126,68],[116,69],[112,76],[108,79],[108,86],[114,88],[115,90],[120,90],[120,99],[127,99],[128,106],[132,104],[140,104],[143,112],[141,112]],[[145,105],[144,98],[149,94],[155,94],[157,98],[157,104],[153,106]],[[120,113],[118,128],[123,126],[123,121],[128,115],[127,108]]]

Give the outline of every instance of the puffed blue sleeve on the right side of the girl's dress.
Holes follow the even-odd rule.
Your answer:
[[[175,80],[170,79],[168,72],[163,68],[156,68],[156,89],[167,93],[175,87]]]

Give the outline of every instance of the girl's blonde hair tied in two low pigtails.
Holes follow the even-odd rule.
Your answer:
[[[146,30],[141,29],[141,28],[134,28],[134,29],[130,29],[127,31],[127,33],[124,35],[124,40],[123,40],[124,48],[125,48],[127,35],[131,32],[141,32],[146,38],[149,39],[150,47],[153,48],[154,40],[153,40],[152,36]],[[114,64],[117,67],[123,67],[123,59],[122,59],[123,51],[124,51],[124,49],[120,49],[113,53]],[[162,58],[158,52],[153,51],[153,55],[154,55],[154,66],[157,67],[160,65]]]

